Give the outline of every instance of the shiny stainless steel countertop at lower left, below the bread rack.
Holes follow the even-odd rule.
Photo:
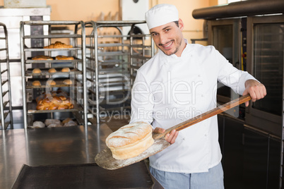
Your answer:
[[[0,131],[0,188],[11,188],[23,164],[88,164],[103,150],[112,130],[88,127],[16,129]]]

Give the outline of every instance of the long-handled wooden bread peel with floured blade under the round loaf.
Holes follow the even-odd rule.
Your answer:
[[[242,97],[239,97],[238,99],[232,100],[231,102],[227,102],[226,104],[223,104],[221,106],[216,107],[215,109],[212,109],[210,111],[206,111],[205,113],[196,116],[194,118],[191,118],[187,121],[184,121],[182,123],[177,124],[176,126],[173,126],[171,128],[168,128],[165,133],[153,133],[153,139],[154,143],[152,146],[150,146],[147,150],[145,150],[143,153],[139,154],[136,157],[132,157],[129,159],[114,159],[112,157],[112,152],[107,147],[105,150],[102,150],[99,154],[95,157],[95,162],[98,166],[101,166],[104,169],[119,169],[124,166],[129,166],[130,164],[134,164],[138,161],[141,161],[143,159],[146,159],[150,157],[153,154],[157,154],[158,152],[164,150],[166,147],[170,146],[170,143],[165,140],[165,135],[167,133],[170,133],[172,130],[182,130],[184,128],[188,128],[189,126],[192,126],[196,123],[199,123],[200,121],[205,120],[206,118],[210,118],[212,116],[215,116],[217,114],[222,113],[223,111],[227,111],[228,109],[232,109],[233,107],[242,104],[244,102],[249,101],[252,99],[249,94],[244,95]]]

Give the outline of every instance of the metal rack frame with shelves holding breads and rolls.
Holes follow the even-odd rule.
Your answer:
[[[47,25],[49,31],[48,35],[32,35],[28,32],[25,35],[26,26],[28,25]],[[73,32],[70,34],[52,33],[52,26],[66,26],[73,27]],[[71,30],[71,29],[70,29]],[[43,47],[30,47],[28,42],[32,39],[46,39],[44,47],[49,45],[51,39],[65,38],[70,39],[72,48],[64,49],[44,49]],[[48,44],[47,44],[48,42]],[[26,44],[27,43],[27,44]],[[28,125],[33,122],[33,114],[50,114],[52,117],[55,113],[61,114],[62,112],[72,112],[78,123],[82,123],[85,126],[88,125],[87,119],[87,101],[86,101],[86,87],[85,87],[85,24],[83,21],[25,21],[20,23],[20,48],[21,48],[21,68],[22,68],[22,87],[23,87],[23,118],[24,126],[28,128]],[[32,60],[30,54],[35,53],[48,53],[64,51],[68,56],[73,56],[74,60],[56,60],[56,57],[52,57],[53,60]],[[56,63],[56,64],[54,64]],[[60,64],[64,63],[64,64]],[[32,68],[26,66],[31,64]],[[32,73],[33,68],[39,68],[41,73]],[[70,68],[70,72],[61,72],[61,68]],[[49,68],[56,69],[56,73],[49,73]],[[54,77],[54,78],[53,78]],[[47,80],[52,78],[56,85],[46,85]],[[71,80],[72,83],[67,85],[64,80]],[[34,80],[40,80],[40,86],[32,85]],[[63,110],[37,110],[37,103],[35,102],[35,91],[45,91],[47,89],[57,88],[67,90],[72,99],[81,99],[80,104],[74,103],[73,109]],[[79,90],[80,89],[80,90]],[[29,98],[29,99],[28,99]]]

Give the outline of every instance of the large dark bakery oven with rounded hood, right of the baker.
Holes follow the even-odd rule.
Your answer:
[[[267,90],[264,99],[245,108],[243,120],[218,116],[225,188],[284,185],[283,10],[282,0],[240,1],[192,13],[194,18],[208,20],[208,43]],[[230,90],[220,89],[218,102],[232,97]]]

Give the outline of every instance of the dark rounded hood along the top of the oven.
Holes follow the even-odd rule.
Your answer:
[[[210,6],[192,11],[196,19],[232,18],[236,16],[283,13],[283,0],[239,1],[223,6]]]

